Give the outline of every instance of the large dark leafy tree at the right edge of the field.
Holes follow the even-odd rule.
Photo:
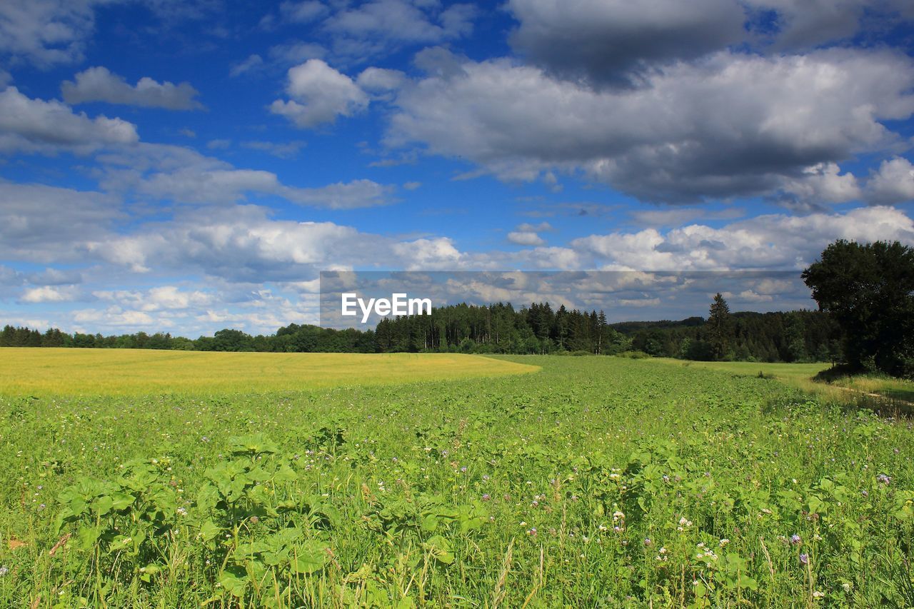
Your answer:
[[[837,240],[802,279],[841,327],[852,369],[914,376],[914,249]]]

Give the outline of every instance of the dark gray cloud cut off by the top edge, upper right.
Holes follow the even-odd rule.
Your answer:
[[[727,48],[778,55],[909,23],[908,0],[509,0],[511,44],[551,74],[595,86]]]

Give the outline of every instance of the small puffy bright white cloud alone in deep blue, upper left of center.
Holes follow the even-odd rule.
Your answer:
[[[303,128],[334,123],[337,116],[352,116],[368,106],[365,91],[321,59],[289,69],[286,92],[292,100],[272,102],[271,112]]]

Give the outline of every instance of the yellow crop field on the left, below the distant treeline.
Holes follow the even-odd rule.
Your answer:
[[[143,349],[0,348],[0,393],[226,393],[379,385],[536,372],[461,354],[203,353]]]

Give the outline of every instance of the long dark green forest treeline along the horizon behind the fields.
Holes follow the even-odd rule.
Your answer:
[[[719,295],[718,295],[719,297]],[[716,308],[717,307],[717,308]],[[314,353],[462,352],[654,356],[743,361],[834,361],[840,333],[830,315],[817,311],[729,313],[722,298],[707,319],[610,324],[602,311],[553,309],[533,303],[448,305],[431,315],[382,319],[375,329],[336,330],[290,324],[272,335],[251,336],[237,329],[212,337],[135,334],[103,337],[41,333],[5,326],[0,347],[95,347]]]

